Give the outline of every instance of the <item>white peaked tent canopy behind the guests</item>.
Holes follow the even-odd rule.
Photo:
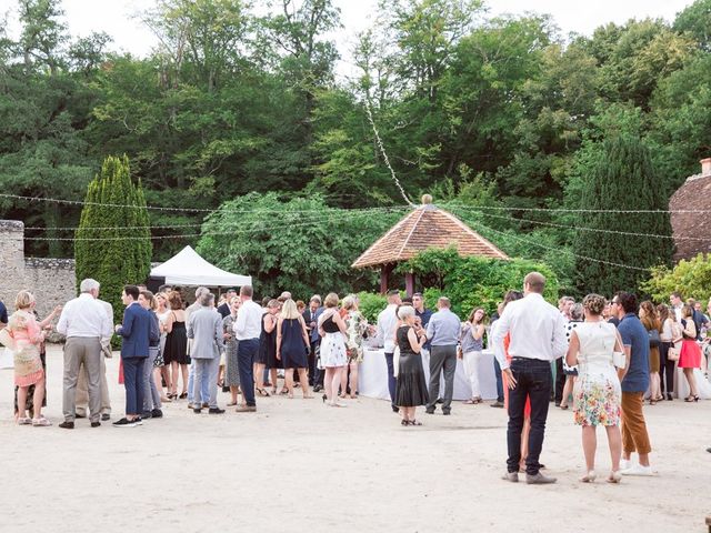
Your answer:
[[[169,285],[244,286],[252,284],[251,275],[239,275],[218,269],[198,255],[191,247],[151,269],[151,278],[164,278]]]

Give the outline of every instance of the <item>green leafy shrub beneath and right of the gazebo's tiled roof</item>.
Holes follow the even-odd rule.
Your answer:
[[[428,306],[434,308],[440,295],[448,296],[452,310],[461,319],[477,306],[493,313],[507,291],[522,290],[523,278],[532,271],[547,279],[543,296],[550,302],[558,299],[558,279],[550,266],[524,259],[460,258],[453,249],[428,250],[403,263],[399,270],[420,278],[422,286],[428,288],[424,292]]]

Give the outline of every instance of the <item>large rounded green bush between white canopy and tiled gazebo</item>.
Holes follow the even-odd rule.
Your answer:
[[[260,296],[291,291],[340,296],[369,289],[377,274],[351,263],[399,215],[389,211],[350,213],[329,208],[323,198],[252,192],[220,205],[202,224],[198,253],[220,268],[249,273]]]

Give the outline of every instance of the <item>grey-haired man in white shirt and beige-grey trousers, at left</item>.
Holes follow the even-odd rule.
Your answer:
[[[64,422],[59,424],[66,430],[74,429],[77,381],[82,364],[87,372],[91,426],[101,425],[101,340],[113,334],[112,319],[97,301],[99,282],[83,280],[79,290],[81,294],[67,302],[57,323],[57,331],[67,336],[62,396]]]

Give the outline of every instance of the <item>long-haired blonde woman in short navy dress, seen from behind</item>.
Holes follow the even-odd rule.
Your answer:
[[[297,309],[292,299],[287,299],[277,320],[277,359],[284,368],[287,395],[293,398],[293,370],[299,372],[299,383],[304,399],[313,398],[309,394],[309,379],[307,366],[309,353],[309,332],[307,323]]]

